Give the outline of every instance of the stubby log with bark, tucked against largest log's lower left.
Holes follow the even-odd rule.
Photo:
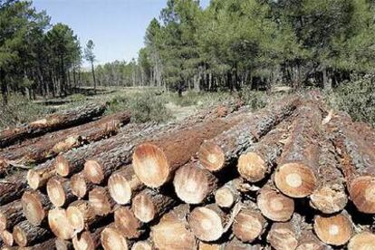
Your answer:
[[[129,204],[131,198],[144,187],[144,184],[135,175],[132,166],[121,168],[112,173],[108,179],[108,190],[111,197],[120,205]]]

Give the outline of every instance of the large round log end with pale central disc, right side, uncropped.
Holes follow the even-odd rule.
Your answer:
[[[287,163],[276,170],[274,184],[288,197],[307,197],[316,187],[316,178],[310,168]]]

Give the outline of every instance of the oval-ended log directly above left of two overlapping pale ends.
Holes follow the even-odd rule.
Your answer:
[[[47,194],[54,207],[63,207],[75,199],[72,194],[71,180],[58,176],[48,180]]]

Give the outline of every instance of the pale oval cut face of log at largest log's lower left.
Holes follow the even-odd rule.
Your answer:
[[[120,205],[130,203],[131,187],[130,182],[118,173],[114,173],[108,179],[108,190],[111,197]]]

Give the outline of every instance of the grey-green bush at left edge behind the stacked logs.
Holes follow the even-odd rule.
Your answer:
[[[12,94],[8,98],[8,105],[0,106],[0,129],[38,120],[51,111],[43,105],[29,101],[23,95]]]

